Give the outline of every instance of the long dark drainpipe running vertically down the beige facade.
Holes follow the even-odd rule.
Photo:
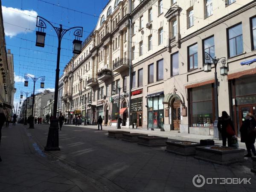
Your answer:
[[[132,44],[131,44],[131,41],[132,41],[132,39],[131,39],[131,25],[132,25],[132,23],[131,23],[131,0],[129,0],[129,6],[130,6],[130,10],[129,10],[129,24],[130,24],[130,30],[129,30],[129,38],[130,38],[130,50],[129,50],[129,58],[130,58],[130,67],[129,67],[129,79],[130,79],[130,84],[129,84],[129,114],[128,114],[128,116],[129,116],[129,128],[130,128],[130,125],[131,125],[131,46],[132,46]]]

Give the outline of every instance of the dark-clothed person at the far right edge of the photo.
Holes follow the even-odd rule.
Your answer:
[[[247,113],[245,116],[245,121],[241,125],[241,143],[245,143],[247,154],[244,157],[252,157],[251,151],[253,151],[253,155],[256,156],[255,150],[255,139],[256,139],[256,120],[252,113]]]

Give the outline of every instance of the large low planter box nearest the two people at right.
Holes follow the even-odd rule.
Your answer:
[[[195,158],[227,165],[244,161],[244,149],[209,145],[195,147]]]

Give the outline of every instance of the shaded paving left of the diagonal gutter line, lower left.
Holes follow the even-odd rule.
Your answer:
[[[46,154],[29,131],[20,124],[2,128],[0,192],[113,191]]]

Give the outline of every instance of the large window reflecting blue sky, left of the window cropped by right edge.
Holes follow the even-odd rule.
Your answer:
[[[244,51],[242,24],[228,29],[229,56],[239,55]]]

